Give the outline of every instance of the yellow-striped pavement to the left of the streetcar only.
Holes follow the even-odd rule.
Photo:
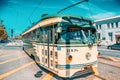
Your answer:
[[[0,49],[0,80],[40,80],[35,76],[39,71],[34,60],[20,47]]]

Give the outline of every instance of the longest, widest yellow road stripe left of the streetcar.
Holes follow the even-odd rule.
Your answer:
[[[34,63],[35,63],[35,62],[32,61],[32,62],[30,62],[30,63],[27,63],[27,64],[23,65],[23,66],[20,66],[20,67],[18,67],[18,68],[15,68],[15,69],[13,69],[13,70],[11,70],[11,71],[9,71],[9,72],[6,72],[6,73],[4,73],[4,74],[1,74],[1,75],[0,75],[0,79],[3,79],[3,78],[5,78],[5,77],[7,77],[7,76],[9,76],[9,75],[12,75],[12,74],[14,74],[14,73],[16,73],[16,72],[18,72],[18,71],[26,68],[27,66],[32,65],[32,64],[34,64]]]

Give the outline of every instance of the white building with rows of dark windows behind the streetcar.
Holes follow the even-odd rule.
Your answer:
[[[120,42],[120,16],[96,20],[95,23],[102,45]]]

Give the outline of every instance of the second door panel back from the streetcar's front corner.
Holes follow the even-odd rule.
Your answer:
[[[43,46],[42,46],[42,62],[43,65],[50,68],[50,44],[51,44],[50,27],[43,28]]]

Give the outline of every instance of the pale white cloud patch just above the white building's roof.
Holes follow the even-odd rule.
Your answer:
[[[115,14],[112,13],[112,12],[106,12],[106,13],[99,13],[97,15],[93,15],[92,17],[94,19],[99,20],[99,19],[109,18],[109,17],[112,17],[112,16],[115,16]]]

